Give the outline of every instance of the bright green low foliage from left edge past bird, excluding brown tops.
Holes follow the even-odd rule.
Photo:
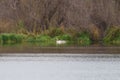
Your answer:
[[[55,31],[56,32],[56,31]],[[91,44],[91,40],[89,38],[89,34],[87,32],[78,32],[76,35],[70,35],[68,33],[60,33],[55,34],[53,37],[47,34],[39,34],[39,35],[25,35],[25,34],[15,34],[15,33],[3,33],[0,34],[0,41],[2,44],[10,44],[10,43],[35,43],[39,46],[52,46],[56,44],[56,40],[65,40],[67,44],[78,44],[81,46],[86,46]]]

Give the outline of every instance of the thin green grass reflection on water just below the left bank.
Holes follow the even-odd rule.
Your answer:
[[[56,42],[23,42],[23,43],[2,43],[0,44],[1,47],[7,46],[34,46],[34,47],[80,47],[80,46],[86,46],[86,45],[80,45],[75,43],[74,41],[67,42],[65,44],[56,44]]]

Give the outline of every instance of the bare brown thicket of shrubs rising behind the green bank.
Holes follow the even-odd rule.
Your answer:
[[[109,26],[120,25],[120,1],[0,0],[0,19],[6,18],[10,21],[7,23],[23,21],[30,32],[62,25],[78,31],[86,29],[99,39]]]

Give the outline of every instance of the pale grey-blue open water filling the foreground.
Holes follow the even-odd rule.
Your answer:
[[[120,80],[120,55],[0,54],[0,80]]]

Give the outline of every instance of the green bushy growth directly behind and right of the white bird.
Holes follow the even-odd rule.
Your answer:
[[[66,40],[69,44],[77,44],[79,46],[87,46],[92,43],[88,32],[76,32],[75,35],[64,34],[56,36],[59,40]]]

